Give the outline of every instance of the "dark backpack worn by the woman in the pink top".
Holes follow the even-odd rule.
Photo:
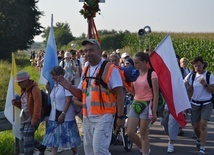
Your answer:
[[[152,72],[153,69],[149,69],[147,73],[147,81],[149,83],[149,87],[152,89]],[[153,90],[152,90],[153,93]],[[158,107],[157,107],[157,116],[158,117],[163,117],[164,116],[164,107],[165,107],[165,100],[163,98],[163,94],[161,90],[159,89],[159,99],[158,99]]]

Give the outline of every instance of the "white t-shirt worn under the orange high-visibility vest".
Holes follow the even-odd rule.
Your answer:
[[[96,66],[89,66],[88,71],[90,72],[90,77],[92,77],[92,75],[93,75],[93,77],[96,76],[96,71],[99,70],[102,62],[103,62],[103,60],[101,60],[101,62]],[[93,83],[94,79],[91,79],[90,82]],[[114,88],[120,87],[120,86],[123,86],[123,82],[122,82],[120,73],[116,68],[113,68],[110,79],[109,79],[108,88],[114,89]],[[81,78],[78,88],[82,89],[82,78]],[[91,106],[91,94],[90,94],[91,86],[90,86],[90,84],[89,84],[88,89],[89,89],[89,91],[88,91],[89,95],[86,97],[86,107],[88,107],[87,108],[88,116],[93,116],[90,114],[90,109],[89,109],[89,107]]]

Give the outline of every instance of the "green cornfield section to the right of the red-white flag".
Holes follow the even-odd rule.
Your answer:
[[[190,61],[195,56],[202,56],[208,62],[207,70],[214,72],[214,34],[213,33],[191,33],[172,34],[172,42],[175,52],[180,57],[186,57]]]

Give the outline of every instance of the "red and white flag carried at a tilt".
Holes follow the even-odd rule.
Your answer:
[[[184,127],[186,120],[182,112],[191,108],[191,105],[170,35],[167,35],[152,52],[150,61],[158,75],[159,86],[170,113]]]

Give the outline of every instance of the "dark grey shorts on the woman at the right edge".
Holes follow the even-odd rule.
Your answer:
[[[209,120],[212,114],[213,104],[196,106],[192,104],[192,124],[200,122],[201,119]]]

